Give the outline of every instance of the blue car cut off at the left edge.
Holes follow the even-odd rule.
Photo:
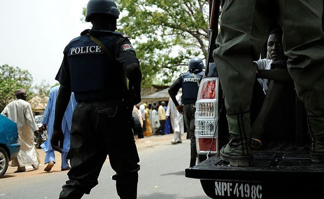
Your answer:
[[[16,123],[0,115],[0,177],[5,174],[9,161],[18,155],[19,150]]]

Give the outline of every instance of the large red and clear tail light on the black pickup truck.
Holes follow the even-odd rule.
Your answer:
[[[199,87],[195,112],[195,136],[198,154],[216,154],[218,113],[218,78],[204,78]]]

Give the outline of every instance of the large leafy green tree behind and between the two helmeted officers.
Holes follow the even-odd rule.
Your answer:
[[[205,59],[208,5],[205,0],[116,0],[118,31],[130,34],[143,73],[143,87],[168,84],[193,56]],[[83,14],[85,9],[83,8]]]

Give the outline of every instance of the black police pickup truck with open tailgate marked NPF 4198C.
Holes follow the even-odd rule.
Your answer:
[[[213,0],[213,4],[219,8],[219,0]],[[219,9],[217,11],[215,15],[218,17]],[[214,26],[216,29],[211,32],[210,41],[215,41],[217,35],[217,25]],[[297,97],[292,101],[295,104],[295,126],[288,133],[290,139],[270,139],[259,150],[253,150],[251,167],[233,167],[220,159],[219,150],[228,141],[228,125],[217,67],[210,58],[213,50],[212,42],[210,44],[205,76],[196,101],[195,136],[199,164],[185,169],[185,176],[199,179],[203,191],[212,199],[322,198],[324,164],[310,160],[305,108]],[[261,57],[265,55],[263,53]]]

